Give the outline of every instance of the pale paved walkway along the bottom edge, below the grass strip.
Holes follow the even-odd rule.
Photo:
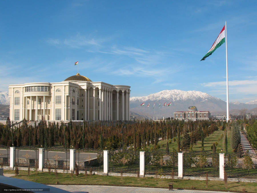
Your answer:
[[[60,188],[69,192],[89,192],[89,193],[171,193],[171,192],[176,192],[176,193],[215,193],[212,191],[196,191],[196,190],[169,190],[167,189],[162,189],[162,188],[136,188],[136,187],[119,187],[119,186],[75,186],[75,185],[49,185],[53,186],[55,188]],[[220,192],[217,192],[220,193]]]

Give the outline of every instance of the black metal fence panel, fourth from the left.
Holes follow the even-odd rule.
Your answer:
[[[103,151],[85,148],[76,150],[76,164],[79,170],[90,170],[103,172]]]

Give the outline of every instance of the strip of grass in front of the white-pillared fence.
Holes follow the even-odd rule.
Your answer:
[[[4,173],[12,173],[12,170],[4,170]],[[160,178],[136,178],[136,177],[120,177],[120,176],[100,176],[100,175],[88,175],[85,179],[83,174],[71,177],[71,174],[57,174],[51,172],[49,175],[47,172],[38,172],[35,175],[34,171],[31,171],[30,175],[27,175],[27,171],[19,171],[18,176],[13,178],[19,178],[23,180],[29,180],[42,184],[58,184],[59,185],[108,185],[108,186],[134,186],[134,187],[151,187],[151,188],[168,188],[168,183],[173,182],[175,189],[187,189],[187,190],[214,190],[214,191],[230,191],[230,192],[256,192],[257,183],[247,182],[228,182],[227,186],[223,181],[210,181],[208,180],[208,186],[206,187],[206,180],[180,180],[180,179],[160,179]],[[227,187],[227,188],[226,188]]]

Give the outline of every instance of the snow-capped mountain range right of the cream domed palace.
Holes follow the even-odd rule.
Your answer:
[[[162,108],[163,104],[171,102],[171,107]],[[165,116],[173,117],[175,111],[186,111],[189,106],[196,106],[199,111],[210,111],[211,114],[217,112],[226,112],[226,102],[213,97],[207,93],[200,91],[182,91],[182,90],[163,90],[158,93],[153,93],[143,97],[130,98],[130,111],[138,114],[144,113],[144,108],[139,105],[145,103],[147,106],[150,103],[150,117],[154,116],[153,104],[155,103],[155,117]],[[160,109],[159,109],[159,104]],[[145,116],[149,116],[149,109],[145,106]],[[245,104],[240,102],[232,102],[229,104],[230,109],[253,109],[257,104]]]

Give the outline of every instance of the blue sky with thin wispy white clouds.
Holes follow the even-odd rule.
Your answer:
[[[0,91],[77,73],[130,85],[130,96],[196,90],[257,99],[257,1],[1,1]]]

